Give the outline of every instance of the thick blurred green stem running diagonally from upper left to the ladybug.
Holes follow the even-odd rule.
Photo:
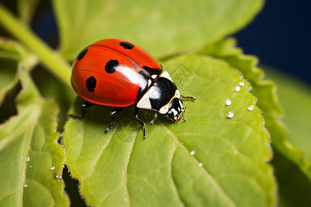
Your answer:
[[[0,24],[39,57],[57,78],[70,86],[70,66],[57,52],[41,41],[27,26],[0,3]]]

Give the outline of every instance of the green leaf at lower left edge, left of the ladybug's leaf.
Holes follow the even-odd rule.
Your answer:
[[[58,108],[40,97],[26,66],[18,63],[18,114],[0,126],[0,206],[68,206],[60,179],[64,148],[54,132]]]

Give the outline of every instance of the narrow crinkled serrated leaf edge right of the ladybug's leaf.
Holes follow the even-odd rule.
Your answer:
[[[301,150],[290,144],[288,132],[281,122],[283,108],[276,95],[276,85],[273,81],[263,79],[263,71],[256,68],[256,57],[242,54],[242,50],[236,48],[234,39],[218,41],[206,46],[200,53],[211,55],[227,61],[230,66],[243,73],[245,79],[252,83],[252,94],[258,97],[258,107],[263,110],[265,127],[272,137],[272,146],[279,150],[285,157],[294,161],[297,166],[311,179],[311,163],[305,158]]]

